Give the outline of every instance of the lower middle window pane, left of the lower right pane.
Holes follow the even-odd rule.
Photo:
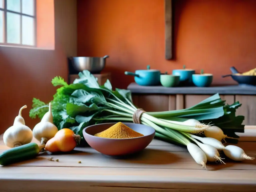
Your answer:
[[[7,43],[20,44],[20,15],[7,12]]]

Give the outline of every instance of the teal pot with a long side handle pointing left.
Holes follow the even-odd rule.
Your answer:
[[[141,86],[158,86],[160,84],[161,72],[156,69],[136,70],[135,73],[125,71],[124,74],[134,76],[134,81]]]

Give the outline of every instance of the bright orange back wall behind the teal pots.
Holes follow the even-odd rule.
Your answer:
[[[164,0],[78,0],[78,56],[104,56],[114,86],[133,81],[124,71],[151,68],[204,69],[214,83],[235,66],[256,66],[255,0],[173,0],[174,55],[165,60]],[[225,82],[224,82],[225,80]]]

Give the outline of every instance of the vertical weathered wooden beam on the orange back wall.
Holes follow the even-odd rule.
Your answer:
[[[165,59],[172,59],[172,0],[164,0],[165,6]]]

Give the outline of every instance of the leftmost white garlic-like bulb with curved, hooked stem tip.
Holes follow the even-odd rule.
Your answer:
[[[10,148],[28,144],[33,139],[32,130],[25,125],[25,121],[21,115],[22,110],[25,108],[27,108],[27,105],[20,108],[19,115],[14,119],[13,126],[4,132],[4,144]]]

